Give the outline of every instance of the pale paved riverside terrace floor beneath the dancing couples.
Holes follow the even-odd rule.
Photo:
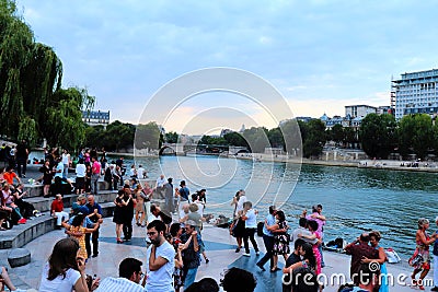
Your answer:
[[[101,226],[99,257],[89,259],[87,272],[89,275],[97,275],[102,279],[107,276],[117,277],[118,264],[125,257],[135,257],[146,262],[145,234],[146,229],[134,226],[132,241],[128,244],[116,244],[115,225],[112,222],[112,218],[106,218]],[[43,266],[47,261],[54,244],[64,236],[64,231],[53,231],[24,246],[32,253],[32,262],[24,267],[10,269],[13,281],[21,288],[38,288]],[[204,229],[203,238],[207,246],[207,256],[210,262],[206,265],[203,260],[197,273],[197,280],[203,277],[212,277],[219,281],[224,269],[229,267],[239,267],[252,271],[255,275],[257,278],[257,288],[255,291],[281,291],[281,272],[273,273],[269,271],[261,271],[255,267],[258,257],[255,256],[253,250],[251,257],[244,257],[242,254],[243,252],[239,254],[234,253],[235,242],[234,238],[228,234],[227,230],[207,225]],[[264,252],[262,238],[256,236],[256,241],[261,250]],[[324,291],[337,291],[338,283],[331,283],[330,278],[335,273],[342,273],[348,279],[349,257],[326,252],[324,253],[324,258],[326,267],[323,269],[323,272],[326,273],[328,278]],[[1,256],[0,262],[4,265],[4,257]],[[279,266],[283,267],[283,264]],[[410,269],[404,268],[402,265],[389,265],[388,269],[395,278],[395,287],[391,288],[391,291],[403,292],[413,290],[412,288],[396,283],[396,277],[403,277],[404,275],[407,277],[405,280],[410,280]],[[427,279],[430,280],[430,278]],[[426,290],[428,289],[426,288]]]

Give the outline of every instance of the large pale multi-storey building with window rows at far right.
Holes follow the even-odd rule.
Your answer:
[[[438,114],[438,69],[402,74],[392,81],[395,118],[410,114]]]

